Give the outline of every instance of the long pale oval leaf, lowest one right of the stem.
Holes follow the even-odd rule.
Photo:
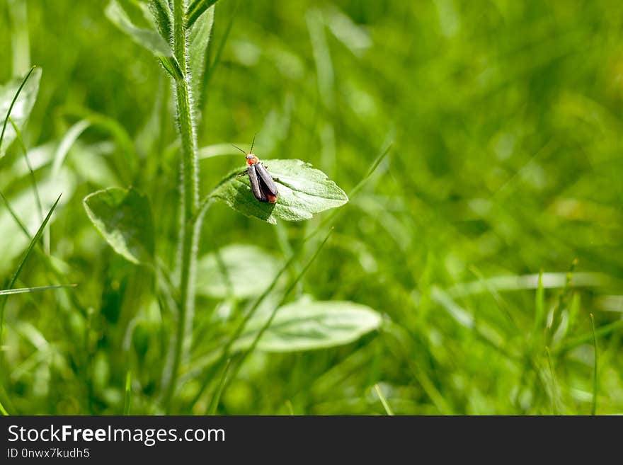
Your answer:
[[[265,323],[265,314],[248,322],[234,348],[243,350]],[[370,307],[353,302],[314,302],[301,299],[282,306],[258,341],[266,352],[294,352],[343,345],[379,328],[381,316]]]

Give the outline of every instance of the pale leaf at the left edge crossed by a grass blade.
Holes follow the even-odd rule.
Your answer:
[[[19,95],[15,103],[13,103],[10,116],[20,132],[23,132],[28,115],[30,115],[30,111],[33,110],[33,105],[35,105],[41,79],[41,68],[35,68],[29,71],[29,74],[30,76],[28,76],[26,81],[23,78],[12,79],[0,87],[0,130],[4,132],[0,141],[0,158],[4,156],[8,147],[16,139],[15,129],[8,123],[8,118],[6,117],[18,91]]]

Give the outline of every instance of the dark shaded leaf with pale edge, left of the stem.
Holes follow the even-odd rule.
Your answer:
[[[154,258],[154,222],[147,197],[134,188],[108,188],[84,197],[86,214],[103,238],[132,263]]]

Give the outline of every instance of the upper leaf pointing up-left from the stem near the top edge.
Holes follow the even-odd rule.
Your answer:
[[[157,30],[139,28],[117,0],[111,0],[105,9],[108,19],[120,30],[130,35],[137,44],[142,45],[156,56],[173,79],[181,79],[182,74],[178,62],[173,57],[171,46],[161,37]],[[157,19],[156,19],[157,21]]]

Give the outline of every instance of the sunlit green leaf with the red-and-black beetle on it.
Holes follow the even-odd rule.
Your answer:
[[[243,169],[230,173],[210,195],[248,217],[276,224],[277,218],[290,222],[310,219],[326,209],[348,202],[348,195],[322,171],[300,160],[267,160],[264,166],[275,178],[277,203],[258,202],[251,193]]]

